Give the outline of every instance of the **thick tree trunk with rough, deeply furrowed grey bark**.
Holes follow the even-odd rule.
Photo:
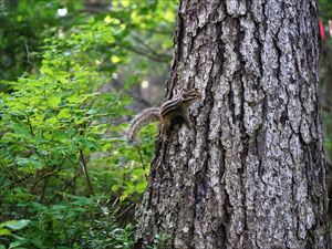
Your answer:
[[[137,248],[330,248],[314,0],[183,0],[167,98],[195,127],[159,143]]]

